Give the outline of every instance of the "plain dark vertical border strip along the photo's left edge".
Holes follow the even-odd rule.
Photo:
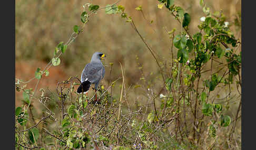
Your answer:
[[[15,149],[15,1],[1,6],[1,149]]]

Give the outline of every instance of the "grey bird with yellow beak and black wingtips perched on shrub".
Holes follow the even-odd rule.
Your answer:
[[[95,101],[97,101],[97,88],[100,84],[100,81],[105,76],[105,68],[101,60],[106,58],[106,55],[102,52],[94,52],[91,62],[87,63],[81,74],[81,84],[77,88],[77,93],[88,93],[88,90],[91,87],[91,84],[95,84]]]

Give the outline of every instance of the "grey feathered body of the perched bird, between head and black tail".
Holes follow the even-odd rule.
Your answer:
[[[86,79],[91,83],[98,82],[104,77],[103,72],[105,74],[104,66],[101,63],[87,63],[81,75],[81,82]]]

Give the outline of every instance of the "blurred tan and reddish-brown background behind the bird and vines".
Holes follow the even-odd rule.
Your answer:
[[[15,1],[15,78],[27,81],[34,77],[36,68],[42,69],[51,61],[54,49],[59,42],[67,40],[73,33],[73,26],[82,26],[80,15],[83,12],[83,5],[92,3],[100,8],[115,1]],[[214,0],[205,1],[210,11],[223,11],[227,22],[233,25],[234,20],[241,17],[241,1],[238,0]],[[156,0],[149,1],[120,1],[117,5],[123,5],[128,16],[134,19],[137,29],[140,31],[146,42],[157,54],[161,63],[169,63],[171,40],[168,31],[176,28],[180,31],[177,20],[166,9],[157,8]],[[191,16],[189,25],[190,33],[199,31],[197,25],[200,18],[205,16],[199,1],[174,1],[175,5],[184,8]],[[135,7],[141,5],[144,13]],[[152,23],[150,23],[153,20]],[[240,24],[241,25],[241,24]],[[241,26],[231,27],[234,36],[241,39]],[[130,87],[129,100],[140,100],[142,89],[136,88],[141,84],[143,75],[147,82],[153,82],[156,87],[160,78],[159,68],[151,53],[146,48],[140,37],[135,33],[130,23],[121,18],[121,14],[107,15],[104,10],[91,16],[84,32],[80,34],[64,55],[61,56],[61,65],[51,67],[50,75],[43,76],[38,84],[40,88],[48,88],[54,91],[57,82],[67,80],[69,77],[80,78],[81,72],[90,62],[95,51],[105,53],[104,60],[106,74],[101,82],[105,87],[109,81],[122,76],[120,63],[125,68],[125,85]],[[176,54],[176,52],[174,52]],[[174,56],[174,58],[176,58]],[[113,63],[110,74],[110,63]],[[143,69],[139,69],[143,67]],[[27,84],[27,88],[35,88],[37,80]],[[117,82],[113,89],[114,97],[119,98],[122,80]],[[37,91],[37,94],[39,92]],[[115,93],[117,95],[115,95]],[[16,106],[22,104],[22,92],[15,92]],[[35,104],[36,106],[36,104]]]

